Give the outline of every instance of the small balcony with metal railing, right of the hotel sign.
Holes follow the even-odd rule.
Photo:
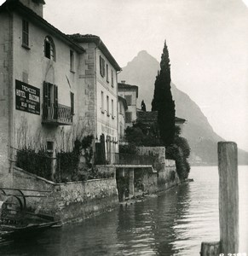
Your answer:
[[[72,108],[61,104],[43,105],[43,124],[72,125]]]

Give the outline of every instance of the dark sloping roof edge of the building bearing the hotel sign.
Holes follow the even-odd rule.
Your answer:
[[[79,44],[76,44],[71,38],[67,37],[66,34],[49,24],[48,21],[44,20],[41,16],[37,15],[32,9],[26,7],[19,0],[7,0],[0,6],[0,13],[6,11],[16,12],[22,16],[28,17],[28,20],[32,20],[37,26],[42,26],[50,34],[60,38],[65,44],[68,44],[72,49],[78,51],[78,53],[84,53],[84,48]]]

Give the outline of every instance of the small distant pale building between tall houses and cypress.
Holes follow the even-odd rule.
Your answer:
[[[126,84],[125,81],[118,83],[118,95],[124,97],[128,105],[128,110],[125,112],[125,128],[132,126],[132,122],[137,118],[138,92],[139,88],[136,85]]]

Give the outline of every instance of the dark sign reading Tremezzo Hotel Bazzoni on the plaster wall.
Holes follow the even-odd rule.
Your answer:
[[[15,80],[15,109],[40,114],[40,90]]]

